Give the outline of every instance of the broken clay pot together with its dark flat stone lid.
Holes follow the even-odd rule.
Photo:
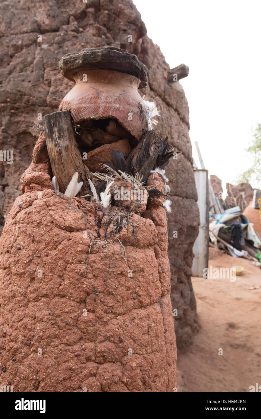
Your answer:
[[[147,108],[138,92],[147,83],[147,68],[127,51],[89,48],[67,54],[59,62],[62,75],[75,86],[60,103],[76,123],[114,118],[138,141],[147,129]]]

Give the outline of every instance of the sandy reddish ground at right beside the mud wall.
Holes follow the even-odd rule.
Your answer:
[[[249,391],[261,385],[261,269],[213,248],[210,265],[240,265],[245,273],[235,282],[192,278],[201,329],[178,355],[178,391]],[[255,285],[260,288],[249,289]]]

